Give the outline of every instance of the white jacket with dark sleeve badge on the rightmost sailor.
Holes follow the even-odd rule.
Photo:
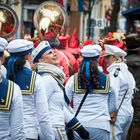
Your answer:
[[[128,67],[124,62],[114,62],[108,67],[107,70],[111,81],[115,83],[115,91],[118,96],[117,108],[119,107],[123,96],[128,89],[121,108],[119,109],[118,115],[132,116],[133,107],[131,102],[135,88],[135,80],[132,74],[128,71]]]

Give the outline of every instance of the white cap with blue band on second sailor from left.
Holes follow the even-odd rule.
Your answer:
[[[6,49],[11,56],[25,56],[32,52],[33,42],[25,39],[15,39],[8,43]]]

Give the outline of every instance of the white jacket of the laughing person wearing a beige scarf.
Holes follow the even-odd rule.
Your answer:
[[[53,127],[65,127],[64,93],[51,75],[44,75],[42,79],[47,93],[51,123]]]

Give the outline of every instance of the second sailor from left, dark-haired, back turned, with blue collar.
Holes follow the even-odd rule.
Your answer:
[[[38,74],[31,71],[29,64],[32,59],[32,48],[33,42],[25,39],[9,42],[7,50],[10,57],[7,62],[7,76],[18,84],[22,91],[26,139],[38,139],[38,121],[45,140],[54,140],[43,82]]]

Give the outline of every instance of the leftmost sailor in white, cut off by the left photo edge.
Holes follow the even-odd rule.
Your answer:
[[[0,38],[0,63],[8,42]],[[23,101],[18,85],[6,79],[6,69],[0,66],[0,139],[25,140],[23,129]]]

